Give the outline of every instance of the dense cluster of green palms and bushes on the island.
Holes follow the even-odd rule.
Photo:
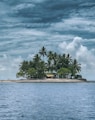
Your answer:
[[[32,60],[24,60],[20,64],[17,77],[42,79],[47,74],[53,74],[58,78],[76,78],[80,71],[81,65],[70,54],[57,54],[42,47]]]

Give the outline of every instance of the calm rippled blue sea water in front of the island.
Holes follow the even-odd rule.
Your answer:
[[[95,83],[0,83],[0,120],[95,120]]]

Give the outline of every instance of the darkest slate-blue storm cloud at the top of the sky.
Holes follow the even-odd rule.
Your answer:
[[[78,9],[80,2],[45,0],[34,3],[25,2],[13,6],[12,17],[18,17],[23,23],[54,23],[66,19]]]

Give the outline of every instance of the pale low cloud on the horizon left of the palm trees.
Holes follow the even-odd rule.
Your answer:
[[[16,73],[18,72],[19,65],[23,61],[21,56],[11,57],[4,54],[2,58],[0,58],[0,79],[16,79]]]

